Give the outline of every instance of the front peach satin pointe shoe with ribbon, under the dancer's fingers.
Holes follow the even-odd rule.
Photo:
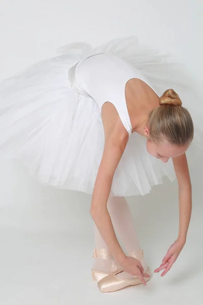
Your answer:
[[[144,253],[141,249],[137,250],[136,252],[130,253],[128,256],[137,258],[141,261],[144,260]],[[149,276],[151,276],[151,272],[149,267],[144,268],[145,273],[147,273]],[[120,272],[116,272],[112,275],[109,275],[103,279],[101,279],[97,285],[98,288],[100,289],[101,292],[113,292],[113,291],[117,291],[120,290],[122,288],[128,287],[128,286],[134,286],[134,285],[139,285],[142,284],[142,282],[140,281],[140,279],[136,276],[134,276],[133,279],[125,279],[125,278],[121,278],[121,277],[116,277],[116,275],[118,275],[118,273]],[[149,281],[150,278],[145,278],[145,281]]]

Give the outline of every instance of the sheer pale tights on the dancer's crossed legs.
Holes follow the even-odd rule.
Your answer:
[[[132,215],[125,197],[109,197],[107,208],[112,220],[116,235],[118,235],[126,254],[140,249],[140,243],[133,225]],[[94,224],[95,248],[108,249],[104,239],[101,237],[96,225]],[[113,259],[113,258],[112,258]],[[142,263],[143,264],[143,263]],[[144,265],[146,263],[144,262]],[[144,266],[144,269],[146,266]],[[93,269],[103,272],[111,270],[112,260],[95,259]],[[126,272],[122,272],[122,277],[131,278]]]

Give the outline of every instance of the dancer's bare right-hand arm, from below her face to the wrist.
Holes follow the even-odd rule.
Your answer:
[[[186,155],[173,159],[179,185],[179,234],[178,239],[186,241],[192,211],[192,187]]]

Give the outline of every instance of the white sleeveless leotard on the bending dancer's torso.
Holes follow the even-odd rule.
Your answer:
[[[92,97],[101,107],[111,102],[125,129],[132,132],[132,126],[125,100],[125,85],[131,78],[148,81],[140,71],[125,60],[107,53],[91,55],[69,69],[69,81],[78,91]]]

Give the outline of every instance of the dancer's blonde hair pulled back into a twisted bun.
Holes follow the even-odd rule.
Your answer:
[[[159,106],[149,115],[149,134],[154,142],[167,140],[177,146],[190,143],[194,127],[189,111],[173,89],[167,89],[159,99]]]

